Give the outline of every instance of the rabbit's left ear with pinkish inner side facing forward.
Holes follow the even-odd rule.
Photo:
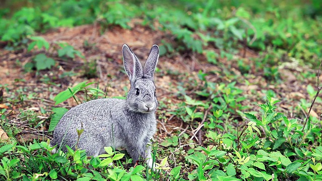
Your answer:
[[[130,82],[133,83],[138,77],[142,77],[142,65],[126,44],[123,45],[122,52],[125,71],[129,76]]]

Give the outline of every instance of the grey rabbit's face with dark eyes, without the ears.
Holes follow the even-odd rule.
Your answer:
[[[151,79],[137,79],[127,96],[127,105],[131,111],[153,113],[157,107],[155,85]]]

